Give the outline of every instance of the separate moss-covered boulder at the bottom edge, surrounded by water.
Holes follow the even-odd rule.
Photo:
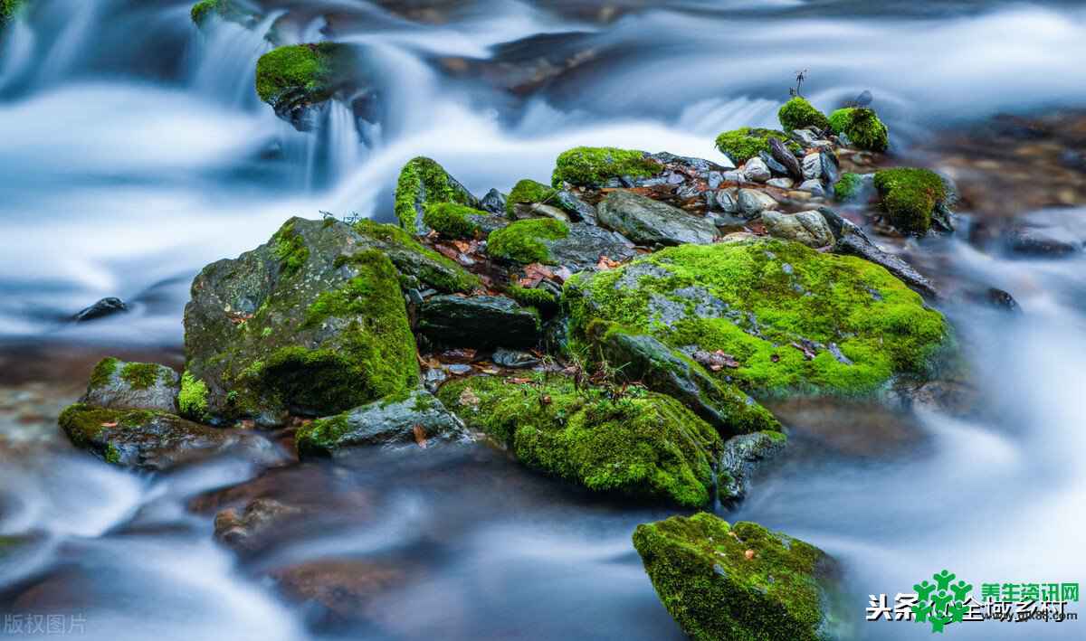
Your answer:
[[[837,571],[811,544],[700,513],[639,525],[633,546],[664,606],[695,641],[837,638]]]

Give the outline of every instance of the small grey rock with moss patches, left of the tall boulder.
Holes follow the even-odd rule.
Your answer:
[[[177,412],[181,377],[156,363],[105,358],[94,366],[80,402],[115,410]]]

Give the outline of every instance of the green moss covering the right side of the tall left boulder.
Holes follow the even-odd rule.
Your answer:
[[[313,328],[328,319],[346,323],[345,348],[285,347],[261,369],[267,390],[290,406],[343,411],[417,385],[415,337],[392,261],[367,249],[354,255],[351,265],[358,275],[317,296],[303,324]]]

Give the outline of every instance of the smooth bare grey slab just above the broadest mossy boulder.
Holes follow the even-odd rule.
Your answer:
[[[615,191],[597,207],[601,225],[639,244],[708,244],[716,227],[705,218],[629,191]]]

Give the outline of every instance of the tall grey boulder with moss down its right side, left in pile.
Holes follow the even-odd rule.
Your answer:
[[[401,274],[342,222],[288,220],[203,269],[185,308],[181,410],[201,420],[328,415],[417,386]]]

